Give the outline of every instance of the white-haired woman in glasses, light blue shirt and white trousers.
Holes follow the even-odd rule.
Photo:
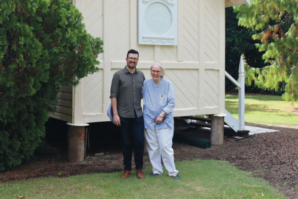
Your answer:
[[[153,166],[151,177],[161,175],[162,161],[169,176],[178,179],[178,171],[174,163],[172,138],[174,132],[173,109],[175,107],[175,92],[172,82],[163,78],[164,70],[158,63],[150,68],[152,79],[143,83],[143,115],[145,123],[145,138],[149,158]]]

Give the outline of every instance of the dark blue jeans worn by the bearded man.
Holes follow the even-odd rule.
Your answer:
[[[136,114],[135,114],[136,115]],[[122,152],[124,170],[131,170],[132,150],[134,146],[134,163],[136,169],[143,168],[144,155],[144,118],[143,116],[134,118],[124,118],[120,116]]]

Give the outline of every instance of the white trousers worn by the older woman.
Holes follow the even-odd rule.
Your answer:
[[[145,129],[145,139],[153,173],[161,175],[162,161],[169,172],[169,176],[178,173],[174,163],[174,150],[172,148],[173,129]]]

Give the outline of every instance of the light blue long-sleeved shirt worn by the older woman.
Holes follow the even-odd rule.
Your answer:
[[[143,83],[143,92],[145,129],[173,129],[175,90],[172,82],[162,79],[159,84],[155,84],[153,79],[147,79]],[[156,124],[154,121],[162,110],[167,113],[164,115],[165,120]]]

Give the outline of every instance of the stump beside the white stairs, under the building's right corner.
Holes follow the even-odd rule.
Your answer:
[[[224,117],[211,115],[211,137],[212,145],[224,144]]]

